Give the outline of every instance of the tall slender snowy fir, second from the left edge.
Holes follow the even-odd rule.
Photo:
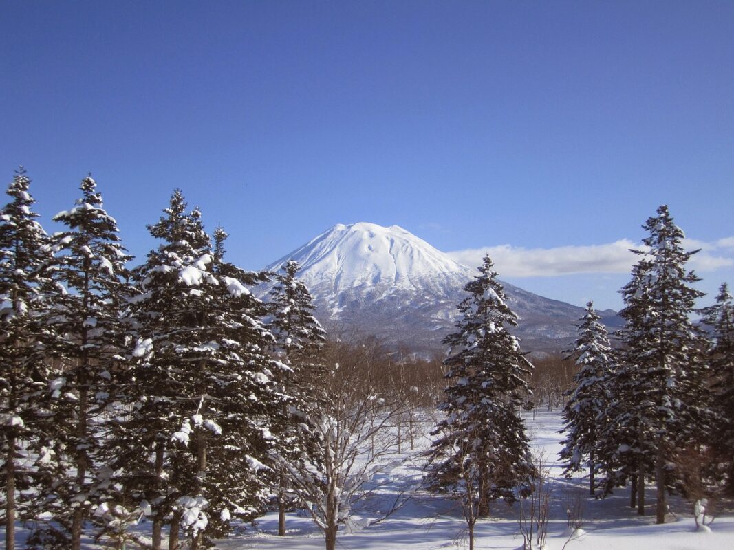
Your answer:
[[[54,279],[66,292],[57,298],[51,325],[57,337],[47,353],[62,373],[52,382],[50,443],[54,461],[39,488],[53,523],[39,524],[32,541],[77,550],[82,529],[98,503],[103,411],[110,403],[112,373],[122,368],[126,345],[121,312],[130,296],[117,223],[103,208],[92,177],[81,180],[81,197],[54,216],[67,227],[54,235]],[[53,531],[51,533],[50,531]]]

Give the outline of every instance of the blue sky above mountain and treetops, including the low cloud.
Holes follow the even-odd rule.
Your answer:
[[[178,187],[246,268],[371,221],[618,308],[666,203],[702,289],[734,284],[730,1],[5,1],[0,22],[6,180],[26,166],[48,220],[92,172],[137,256]]]

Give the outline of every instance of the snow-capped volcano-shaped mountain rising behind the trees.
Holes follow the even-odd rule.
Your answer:
[[[338,321],[341,329],[423,353],[443,350],[463,287],[476,273],[402,227],[364,222],[337,224],[266,269],[277,271],[286,260],[299,263],[299,278],[327,328]],[[524,349],[557,349],[573,340],[584,309],[504,287],[520,316]],[[616,324],[614,312],[605,314],[608,324]]]

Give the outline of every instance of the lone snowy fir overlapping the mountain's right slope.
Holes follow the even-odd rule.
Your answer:
[[[507,326],[517,315],[507,306],[493,263],[484,257],[479,276],[468,282],[469,296],[458,306],[458,331],[444,340],[449,345],[446,414],[433,435],[426,480],[435,491],[477,494],[479,516],[488,503],[512,502],[527,490],[534,468],[520,408],[530,393],[526,378],[532,365]],[[476,487],[463,486],[462,472],[475,469]]]

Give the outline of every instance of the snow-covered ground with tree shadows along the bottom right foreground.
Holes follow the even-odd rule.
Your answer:
[[[559,411],[538,411],[529,415],[527,425],[534,447],[545,453],[551,477],[551,521],[548,529],[548,550],[686,550],[734,548],[734,510],[724,508],[711,524],[711,532],[696,532],[691,505],[679,497],[672,497],[668,523],[655,525],[654,495],[647,493],[648,515],[641,517],[628,507],[629,489],[621,490],[603,500],[586,496],[588,480],[566,480],[558,461],[561,436]],[[425,445],[426,440],[422,441]],[[404,482],[412,477],[417,484],[421,478],[418,463],[404,466],[390,476]],[[389,491],[389,486],[385,491]],[[584,500],[584,531],[586,535],[569,540],[565,512],[573,491],[582,491]],[[386,497],[389,495],[386,495]],[[720,505],[721,506],[721,505]],[[476,549],[517,549],[523,545],[518,526],[518,506],[508,507],[501,502],[492,508],[492,518],[476,525]],[[324,540],[308,518],[289,514],[288,534],[277,536],[277,516],[261,518],[255,529],[218,543],[219,550],[315,550],[324,548]],[[454,504],[447,499],[418,492],[401,510],[379,524],[357,532],[340,532],[338,548],[357,550],[434,550],[468,548],[465,523]]]

